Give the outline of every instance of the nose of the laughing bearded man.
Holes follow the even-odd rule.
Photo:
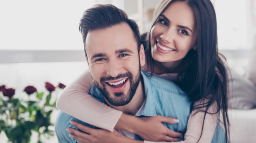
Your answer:
[[[112,77],[116,77],[121,74],[121,63],[116,60],[109,60],[107,67],[107,74]]]

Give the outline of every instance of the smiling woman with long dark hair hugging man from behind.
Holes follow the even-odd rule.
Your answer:
[[[163,0],[154,17],[146,38],[147,67],[142,70],[176,81],[187,92],[193,107],[184,142],[211,142],[220,113],[227,137],[227,77],[218,55],[216,15],[211,1]],[[64,90],[57,107],[79,120],[110,131],[114,128],[127,130],[148,141],[179,141],[175,137],[180,134],[170,133],[161,124],[167,122],[166,118],[136,118],[102,105],[90,95],[85,96],[91,85],[89,74],[80,78]],[[154,127],[148,127],[149,123]]]

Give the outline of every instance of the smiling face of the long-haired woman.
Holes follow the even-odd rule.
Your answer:
[[[178,63],[191,48],[196,49],[194,12],[185,2],[173,2],[159,16],[150,35],[154,60]]]

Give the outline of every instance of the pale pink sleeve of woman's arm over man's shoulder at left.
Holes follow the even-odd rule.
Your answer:
[[[57,108],[90,125],[113,131],[122,112],[89,95],[92,87],[89,71],[67,86],[57,100]]]

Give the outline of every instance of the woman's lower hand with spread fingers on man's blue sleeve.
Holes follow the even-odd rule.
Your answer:
[[[116,130],[111,132],[103,129],[92,129],[74,121],[70,123],[88,133],[86,134],[76,129],[68,128],[67,131],[71,132],[69,137],[76,138],[78,143],[143,143],[143,141],[127,138]]]

